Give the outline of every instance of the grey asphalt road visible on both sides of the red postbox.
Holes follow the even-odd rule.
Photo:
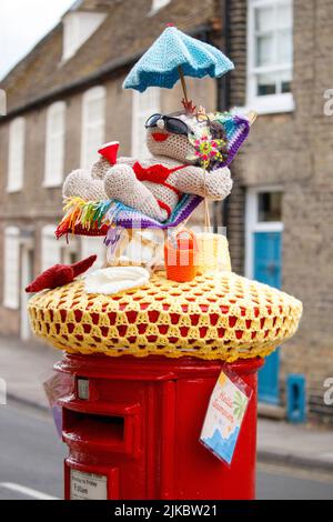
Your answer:
[[[0,500],[62,498],[65,445],[48,412],[0,406]],[[333,474],[259,464],[258,499],[333,499]]]

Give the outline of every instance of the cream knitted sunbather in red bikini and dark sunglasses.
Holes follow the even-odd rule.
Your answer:
[[[194,114],[178,113],[153,114],[145,129],[151,158],[119,158],[111,164],[110,159],[102,157],[91,173],[71,172],[64,181],[63,195],[84,201],[114,199],[160,222],[168,220],[184,193],[213,201],[229,195],[232,188],[229,169],[215,164],[206,171],[201,159],[209,157],[200,155],[195,148],[202,137],[214,145],[222,142],[219,140],[222,126],[219,128],[219,123],[212,124],[206,118],[200,120]],[[218,151],[213,154],[222,158]],[[210,168],[212,164],[213,158]]]

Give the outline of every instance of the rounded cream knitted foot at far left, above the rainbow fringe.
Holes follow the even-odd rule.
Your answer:
[[[84,170],[73,170],[64,180],[62,194],[64,198],[82,198],[84,201],[107,199],[104,182],[93,180]]]

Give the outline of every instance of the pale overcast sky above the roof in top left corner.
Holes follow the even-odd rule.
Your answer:
[[[57,23],[74,0],[0,0],[0,79]]]

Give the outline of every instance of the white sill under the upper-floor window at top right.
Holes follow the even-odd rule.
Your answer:
[[[249,100],[246,107],[238,108],[236,112],[246,113],[251,110],[258,114],[281,114],[293,112],[295,102],[291,93],[256,97]]]

